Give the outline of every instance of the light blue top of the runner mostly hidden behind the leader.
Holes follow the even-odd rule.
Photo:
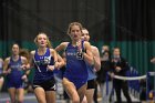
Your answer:
[[[86,66],[87,66],[87,73],[89,73],[87,80],[96,79],[94,66],[93,65],[90,65],[89,63],[86,63]]]

